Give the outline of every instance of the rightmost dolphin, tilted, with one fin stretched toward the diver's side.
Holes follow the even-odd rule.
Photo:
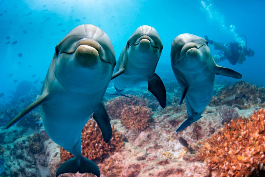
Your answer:
[[[176,132],[198,121],[214,93],[215,75],[241,79],[232,69],[218,66],[210,53],[208,42],[193,34],[180,34],[171,45],[171,66],[181,86],[179,104],[185,98],[188,118]]]

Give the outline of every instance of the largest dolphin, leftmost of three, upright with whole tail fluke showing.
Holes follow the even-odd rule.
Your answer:
[[[103,96],[115,64],[114,48],[104,31],[92,24],[73,28],[55,47],[41,96],[7,125],[6,129],[40,106],[48,136],[75,156],[57,169],[56,177],[69,172],[100,176],[98,166],[81,154],[81,132],[94,112],[104,141],[110,141],[112,129]]]

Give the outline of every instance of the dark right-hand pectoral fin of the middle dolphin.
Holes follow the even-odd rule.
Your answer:
[[[167,101],[166,88],[163,81],[156,73],[148,80],[148,90],[155,96],[161,107],[165,108]]]

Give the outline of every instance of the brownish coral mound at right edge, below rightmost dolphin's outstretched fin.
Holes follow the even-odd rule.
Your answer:
[[[265,88],[249,84],[245,81],[235,82],[232,86],[224,87],[211,100],[210,105],[240,105],[243,109],[251,106],[265,106]]]

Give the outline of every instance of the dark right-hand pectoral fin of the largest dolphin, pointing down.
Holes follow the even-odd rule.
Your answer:
[[[95,107],[93,118],[101,130],[104,141],[108,143],[111,140],[112,128],[110,118],[103,101],[101,101],[98,106]]]

